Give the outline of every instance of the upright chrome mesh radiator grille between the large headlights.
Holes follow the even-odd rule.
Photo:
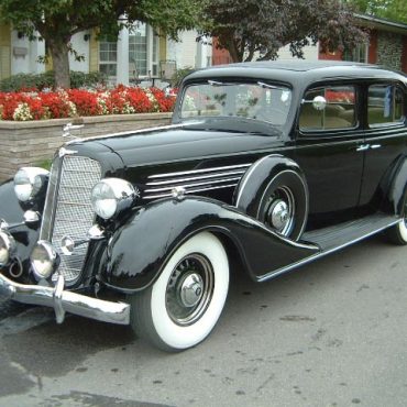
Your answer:
[[[100,177],[100,164],[87,157],[67,155],[53,164],[41,239],[51,241],[59,252],[58,271],[67,283],[78,278],[88,244],[77,246],[74,253],[67,256],[61,253],[61,239],[64,235],[75,241],[86,238],[95,218],[90,193]]]

